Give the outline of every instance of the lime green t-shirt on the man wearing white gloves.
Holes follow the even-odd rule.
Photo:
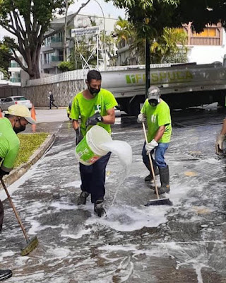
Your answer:
[[[167,103],[161,99],[160,103],[153,107],[149,104],[148,99],[146,99],[141,113],[145,114],[148,123],[148,142],[154,139],[159,127],[165,125],[165,132],[157,142],[168,143],[172,133],[172,125]]]

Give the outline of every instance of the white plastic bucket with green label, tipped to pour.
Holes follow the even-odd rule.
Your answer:
[[[100,144],[112,141],[110,134],[100,126],[93,126],[76,146],[76,158],[84,165],[92,165],[109,151],[100,148]]]

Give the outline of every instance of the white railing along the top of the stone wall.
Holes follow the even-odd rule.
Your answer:
[[[173,64],[150,64],[150,68],[170,67]],[[130,65],[130,66],[114,66],[107,67],[107,71],[123,71],[129,69],[145,69],[145,65]],[[103,71],[100,69],[100,71]],[[48,76],[42,79],[28,80],[26,86],[40,86],[49,83],[59,83],[60,81],[75,81],[85,79],[88,69],[80,69],[74,71],[65,71],[64,73]]]

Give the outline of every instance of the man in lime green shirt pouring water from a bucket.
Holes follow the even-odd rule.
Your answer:
[[[71,105],[71,119],[73,128],[76,130],[76,144],[85,137],[86,132],[93,125],[99,125],[111,134],[111,124],[114,124],[114,106],[117,106],[112,93],[101,88],[101,74],[99,71],[91,70],[87,75],[87,88],[73,98]],[[78,122],[79,117],[81,122]],[[78,198],[78,205],[85,204],[86,199],[91,195],[91,202],[94,204],[94,212],[97,216],[105,216],[103,207],[105,196],[105,174],[109,161],[110,152],[102,156],[90,166],[79,163],[81,173],[81,195]]]

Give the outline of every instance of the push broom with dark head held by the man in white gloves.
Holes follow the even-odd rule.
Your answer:
[[[144,133],[144,136],[145,136],[145,141],[146,141],[146,144],[148,144],[148,137],[147,137],[144,122],[142,122],[142,125],[143,125],[143,133]],[[151,173],[153,174],[153,180],[154,180],[154,183],[155,183],[155,192],[156,192],[157,200],[149,200],[148,203],[145,204],[145,207],[149,207],[150,205],[163,205],[163,204],[172,205],[172,202],[168,198],[160,199],[160,196],[159,196],[158,190],[157,190],[157,184],[156,184],[156,179],[155,179],[155,171],[154,171],[154,168],[153,168],[153,161],[151,160],[150,152],[148,154],[148,157],[149,157],[149,161],[150,161]]]

